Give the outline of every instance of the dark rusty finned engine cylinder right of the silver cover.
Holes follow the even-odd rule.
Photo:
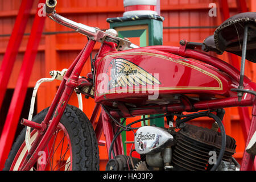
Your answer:
[[[186,125],[177,133],[172,163],[176,170],[209,170],[211,151],[218,155],[221,148],[220,133],[203,127]],[[224,161],[230,162],[236,152],[236,140],[226,136]]]

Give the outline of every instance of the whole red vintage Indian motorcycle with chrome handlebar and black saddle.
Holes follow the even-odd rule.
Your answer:
[[[27,129],[14,143],[5,170],[98,170],[102,132],[109,152],[106,170],[251,170],[256,84],[244,76],[244,65],[245,59],[256,62],[256,13],[226,20],[204,43],[181,40],[180,47],[139,48],[119,38],[115,30],[104,32],[58,15],[56,4],[55,0],[46,1],[49,18],[86,35],[88,43],[68,70],[51,72],[53,79],[62,80],[52,105],[33,119],[22,119]],[[81,77],[96,42],[101,42],[101,48],[94,59],[91,57],[92,72]],[[241,56],[241,71],[195,47]],[[68,105],[74,90],[94,98],[96,106],[90,119],[81,108]],[[232,156],[236,141],[225,134],[222,124],[223,108],[236,106],[253,106],[241,166]],[[157,115],[123,125],[125,118],[148,114]],[[170,127],[145,123],[133,127],[163,117]],[[214,119],[212,129],[187,123],[199,117]],[[123,131],[134,133],[135,150],[128,156],[123,151]],[[140,158],[134,158],[132,152]]]

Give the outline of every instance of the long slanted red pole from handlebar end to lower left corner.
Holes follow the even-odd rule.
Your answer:
[[[44,0],[39,1],[39,3],[43,2]],[[34,65],[36,53],[38,51],[45,20],[46,17],[40,17],[38,16],[38,13],[35,14],[30,39],[28,40],[27,49],[23,57],[22,68],[20,69],[18,81],[15,86],[13,98],[6,117],[5,126],[3,127],[0,138],[0,169],[3,168],[5,160],[7,159],[13,144],[16,127],[18,125],[24,99],[26,97],[27,85],[28,81],[30,80],[30,75]]]

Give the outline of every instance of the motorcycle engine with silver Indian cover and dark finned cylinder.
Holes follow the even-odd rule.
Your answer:
[[[184,123],[179,131],[143,126],[134,139],[135,150],[144,156],[135,170],[199,170],[207,171],[216,163],[221,148],[217,131]],[[226,148],[220,171],[235,171],[239,164],[232,155],[236,140],[226,136]]]

